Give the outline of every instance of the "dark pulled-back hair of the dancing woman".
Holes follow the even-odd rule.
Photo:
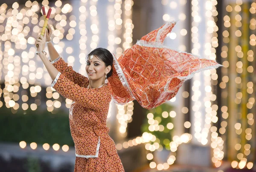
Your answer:
[[[107,49],[97,48],[91,51],[87,55],[87,59],[91,55],[95,55],[96,57],[98,57],[100,60],[102,60],[105,63],[106,66],[111,66],[111,70],[107,74],[107,78],[110,77],[113,71],[113,55],[111,54],[111,52],[109,52]]]

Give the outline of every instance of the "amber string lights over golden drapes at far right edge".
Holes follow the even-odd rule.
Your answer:
[[[227,15],[224,16],[224,30],[221,57],[223,59],[221,97],[227,100],[227,106],[222,106],[222,118],[227,119],[230,127],[225,132],[227,122],[223,121],[223,135],[233,138],[228,142],[229,160],[233,168],[248,169],[253,167],[254,155],[250,154],[255,142],[251,140],[255,124],[253,120],[253,46],[255,46],[255,7],[256,3],[236,0],[226,6]],[[250,15],[251,14],[251,15]],[[242,20],[243,16],[243,20]],[[251,18],[249,18],[249,16]],[[250,24],[247,23],[250,21]],[[250,42],[244,42],[250,37]],[[247,54],[247,58],[246,58]],[[232,57],[232,60],[230,59]],[[227,95],[232,92],[232,95]],[[228,108],[227,108],[228,107]],[[232,114],[232,115],[229,115]],[[234,139],[235,138],[235,139]],[[234,148],[236,151],[234,151]],[[254,149],[255,150],[255,149]]]

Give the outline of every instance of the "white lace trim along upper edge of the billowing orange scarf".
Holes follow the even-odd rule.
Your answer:
[[[177,50],[177,49],[173,49],[173,48],[171,48],[171,47],[164,46],[163,43],[159,43],[159,42],[150,42],[150,43],[149,43],[149,42],[146,41],[146,40],[137,40],[137,43],[136,43],[136,44],[139,45],[139,46],[147,46],[147,47],[154,47],[154,48],[166,48],[166,49],[171,49],[171,50],[174,50],[174,51],[176,51],[176,52],[178,52],[178,53],[190,54],[190,55],[192,55],[192,56],[195,56],[195,57],[198,57],[198,58],[201,59],[201,57],[198,56],[198,55],[195,55],[195,54],[192,54],[192,53],[188,53],[188,52],[179,51],[179,50]]]

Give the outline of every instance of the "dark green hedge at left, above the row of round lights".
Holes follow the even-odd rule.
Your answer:
[[[21,109],[21,108],[20,108]],[[37,144],[67,144],[73,146],[70,134],[68,113],[58,111],[55,114],[47,110],[18,110],[12,114],[11,109],[0,108],[0,141],[25,141]]]

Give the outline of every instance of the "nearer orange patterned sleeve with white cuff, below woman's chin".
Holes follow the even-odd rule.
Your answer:
[[[102,106],[105,92],[99,92],[97,89],[87,89],[79,86],[78,84],[70,81],[61,72],[55,77],[52,82],[52,87],[63,97],[66,97],[75,102],[81,103],[88,108],[95,108],[97,103]],[[99,100],[101,99],[101,100]]]

